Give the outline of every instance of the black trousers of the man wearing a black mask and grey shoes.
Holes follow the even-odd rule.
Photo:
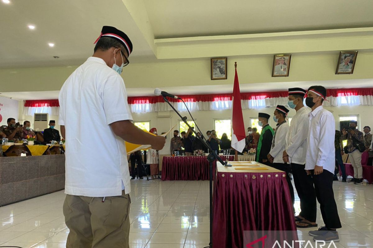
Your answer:
[[[333,173],[323,170],[323,173],[314,175],[313,170],[311,170],[311,174],[325,226],[330,229],[341,228],[342,225],[339,220],[337,204],[334,199]]]

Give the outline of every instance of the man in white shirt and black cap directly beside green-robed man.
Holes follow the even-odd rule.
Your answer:
[[[293,212],[294,211],[294,189],[291,184],[289,173],[291,172],[291,167],[289,164],[283,161],[282,154],[285,150],[285,138],[289,131],[289,124],[286,122],[286,116],[288,115],[289,110],[285,106],[277,105],[275,112],[273,113],[273,120],[278,123],[278,126],[275,130],[275,134],[272,139],[272,148],[267,155],[268,161],[271,163],[270,166],[286,172],[286,181],[288,182]]]

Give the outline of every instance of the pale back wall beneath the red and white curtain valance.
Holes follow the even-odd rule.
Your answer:
[[[341,106],[341,107],[325,107],[327,110],[332,111],[335,120],[336,120],[336,129],[339,129],[339,115],[360,115],[360,122],[358,123],[358,128],[361,130],[364,126],[370,126],[373,128],[373,106]],[[242,110],[244,115],[245,130],[250,126],[250,117],[257,117],[258,112],[268,113],[273,115],[275,108],[269,107],[264,109],[244,109]],[[207,130],[214,128],[214,119],[225,119],[232,117],[232,110],[222,110],[222,111],[197,111],[192,112],[193,117],[195,118],[197,125],[203,133],[206,133]],[[295,110],[290,110],[289,116],[294,116]],[[187,112],[182,112],[182,116],[187,116]],[[159,113],[145,113],[145,114],[132,114],[132,117],[135,121],[150,121],[150,128],[157,128],[158,133],[167,132],[176,125],[175,129],[178,129],[178,123],[180,117],[171,111],[169,112],[159,112]],[[23,116],[24,120],[31,121],[33,124],[33,116]],[[50,116],[49,119],[56,120],[58,122],[58,116]],[[188,118],[190,119],[190,118]],[[94,125],[94,123],[93,123]],[[270,120],[270,125],[272,127],[276,126],[276,123],[273,120]],[[88,127],[89,128],[89,127]],[[56,126],[57,130],[59,126]],[[170,139],[172,138],[173,133],[167,135],[166,145],[160,151],[160,154],[169,154],[170,150]]]

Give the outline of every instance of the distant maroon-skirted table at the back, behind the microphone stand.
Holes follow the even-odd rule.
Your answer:
[[[219,156],[223,161],[232,161],[233,155]],[[215,175],[216,162],[213,163]],[[209,161],[207,156],[164,156],[162,161],[162,180],[209,180]]]

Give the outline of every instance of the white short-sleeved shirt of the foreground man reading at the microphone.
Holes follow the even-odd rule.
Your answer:
[[[66,129],[65,193],[104,197],[131,191],[126,147],[109,124],[132,120],[122,77],[90,57],[63,84],[59,125]]]

